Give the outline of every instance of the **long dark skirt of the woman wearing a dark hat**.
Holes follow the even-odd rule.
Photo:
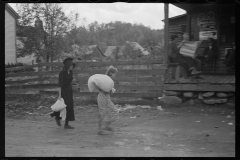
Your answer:
[[[74,121],[74,109],[73,109],[73,92],[72,86],[67,85],[61,88],[61,96],[64,99],[64,103],[67,105],[66,121]],[[54,112],[57,119],[61,119],[60,112]]]

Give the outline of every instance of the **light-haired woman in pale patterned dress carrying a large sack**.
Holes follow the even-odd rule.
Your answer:
[[[109,76],[111,79],[116,77],[118,70],[117,68],[110,66],[107,69],[106,75]],[[114,82],[113,82],[114,83]],[[92,83],[94,88],[99,92],[97,97],[98,103],[98,134],[99,135],[106,135],[109,134],[111,131],[114,131],[110,124],[118,118],[118,109],[113,104],[110,94],[115,93],[115,89],[112,88],[109,92],[103,91],[100,89],[101,87],[97,86],[95,83]],[[114,86],[114,84],[112,84]],[[110,132],[109,132],[110,131]]]

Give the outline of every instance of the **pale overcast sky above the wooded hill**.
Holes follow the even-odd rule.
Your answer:
[[[15,10],[16,3],[9,3]],[[163,3],[62,3],[65,14],[71,11],[79,13],[79,18],[85,18],[85,25],[94,21],[110,23],[122,21],[127,23],[143,24],[151,29],[163,29],[164,4]],[[185,14],[186,12],[173,5],[169,5],[169,17]],[[82,21],[79,25],[82,25]]]

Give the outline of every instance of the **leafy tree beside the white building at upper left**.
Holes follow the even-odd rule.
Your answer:
[[[56,3],[18,3],[17,12],[20,15],[19,28],[22,28],[20,32],[23,33],[18,37],[23,44],[17,47],[18,56],[34,53],[47,62],[53,61],[66,49],[63,37],[76,28],[78,20],[78,14],[67,17],[60,4]]]

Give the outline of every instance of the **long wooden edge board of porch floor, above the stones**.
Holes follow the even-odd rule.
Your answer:
[[[210,85],[210,84],[164,84],[164,90],[175,91],[224,91],[235,92],[234,85]]]

